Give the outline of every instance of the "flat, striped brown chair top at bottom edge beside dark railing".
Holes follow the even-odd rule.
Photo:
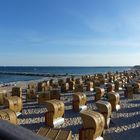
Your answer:
[[[47,137],[50,140],[72,140],[72,131],[41,127],[37,135]]]

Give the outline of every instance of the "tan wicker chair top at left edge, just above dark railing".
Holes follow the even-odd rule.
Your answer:
[[[17,124],[16,112],[11,109],[0,110],[0,119],[9,121],[10,123]]]

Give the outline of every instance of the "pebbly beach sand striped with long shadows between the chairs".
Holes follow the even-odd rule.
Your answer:
[[[45,105],[38,105],[37,102],[25,102],[25,90],[27,84],[37,81],[17,82],[16,86],[23,89],[23,111],[18,117],[18,124],[37,132],[40,127],[45,126],[44,113],[47,111]],[[14,85],[1,87],[10,90]],[[65,122],[57,128],[72,130],[73,140],[78,140],[78,132],[82,127],[82,120],[79,113],[72,110],[72,94],[61,94],[61,100],[65,103]],[[87,95],[88,109],[96,111],[93,92],[85,92]],[[140,139],[140,94],[134,94],[133,99],[124,98],[124,91],[119,91],[121,97],[121,109],[112,113],[110,128],[105,130],[104,140],[139,140]]]

